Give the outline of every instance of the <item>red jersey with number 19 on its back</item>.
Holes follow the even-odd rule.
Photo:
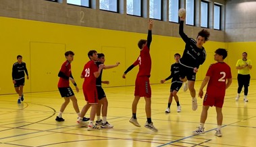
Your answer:
[[[98,71],[98,66],[94,61],[88,61],[84,65],[84,69],[82,70],[82,76],[84,76],[83,88],[96,88],[96,78],[94,76],[96,71]]]

